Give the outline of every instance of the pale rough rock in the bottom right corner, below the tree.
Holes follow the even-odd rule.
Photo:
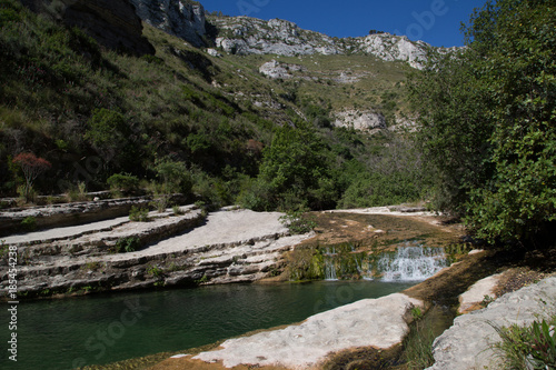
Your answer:
[[[556,312],[556,277],[507,293],[487,308],[460,316],[433,344],[435,364],[427,370],[502,369],[493,344],[500,341],[494,327],[530,324]]]

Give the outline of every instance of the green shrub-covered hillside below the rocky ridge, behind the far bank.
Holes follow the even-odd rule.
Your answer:
[[[0,4],[3,196],[26,196],[13,162],[26,152],[52,164],[28,201],[105,190],[115,173],[140,181],[126,190],[260,210],[421,196],[420,154],[404,133],[411,121],[405,80],[414,70],[405,61],[215,52],[147,21],[142,38],[156,53],[136,53],[67,26],[63,8],[37,14],[14,0]],[[211,21],[208,30],[224,34],[225,21],[245,20]]]

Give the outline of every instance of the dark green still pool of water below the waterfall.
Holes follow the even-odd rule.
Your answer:
[[[1,346],[0,369],[72,369],[200,347],[245,332],[302,321],[415,282],[322,281],[232,284],[21,302],[18,362]],[[3,307],[7,307],[3,306]],[[1,342],[9,339],[1,313]]]

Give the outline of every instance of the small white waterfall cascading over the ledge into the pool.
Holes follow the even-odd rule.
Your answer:
[[[396,253],[383,256],[376,268],[383,281],[418,281],[447,266],[443,248],[400,247]]]

